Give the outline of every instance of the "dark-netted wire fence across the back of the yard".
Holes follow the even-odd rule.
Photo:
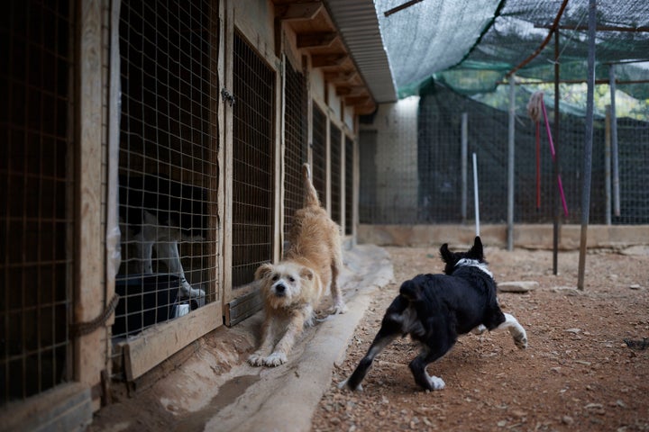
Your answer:
[[[430,90],[430,89],[429,89]],[[544,126],[541,127],[536,180],[535,124],[529,120],[526,104],[529,93],[516,92],[516,135],[514,172],[514,221],[548,223],[554,212],[561,211],[553,158]],[[461,130],[462,112],[468,114],[467,184],[462,184]],[[425,92],[418,103],[416,139],[416,186],[395,182],[390,166],[402,161],[379,160],[379,137],[370,131],[361,133],[361,220],[366,223],[462,222],[462,188],[467,189],[468,219],[474,214],[471,154],[478,160],[480,220],[489,223],[507,221],[508,113],[475,102],[441,86]],[[551,128],[553,112],[548,111]],[[649,183],[649,123],[618,120],[621,214],[613,217],[618,224],[649,222],[647,197]],[[561,131],[554,137],[559,155],[562,186],[569,214],[565,223],[580,223],[581,188],[586,125],[582,117],[561,115]],[[554,133],[555,131],[553,131]],[[596,118],[593,130],[591,189],[602,191],[590,197],[590,223],[605,223],[605,125]],[[404,150],[405,152],[405,150]],[[369,160],[368,160],[369,159]],[[413,168],[415,169],[415,168]],[[370,175],[370,177],[368,177]],[[374,175],[374,177],[371,177]],[[417,211],[407,210],[382,200],[383,184],[400,184],[401,194],[417,194]],[[536,196],[539,195],[540,201]],[[373,202],[371,200],[374,200]],[[414,217],[416,215],[416,217]]]

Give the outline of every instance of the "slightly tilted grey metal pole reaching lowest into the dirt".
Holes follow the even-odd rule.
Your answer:
[[[586,269],[586,242],[588,239],[588,224],[590,216],[590,175],[592,171],[592,139],[593,139],[593,105],[595,93],[595,29],[597,24],[596,0],[589,0],[589,52],[588,52],[588,91],[586,94],[586,139],[584,142],[583,160],[583,189],[581,190],[581,236],[580,261],[577,288],[584,289],[584,273]]]

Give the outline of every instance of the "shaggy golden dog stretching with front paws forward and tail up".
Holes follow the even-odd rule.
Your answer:
[[[248,359],[254,366],[287,362],[297,336],[305,325],[313,324],[314,307],[327,290],[334,301],[331,312],[346,311],[337,283],[343,266],[340,227],[320,205],[308,164],[302,166],[302,175],[305,205],[293,217],[285,257],[255,272],[266,316],[261,326],[261,346]]]

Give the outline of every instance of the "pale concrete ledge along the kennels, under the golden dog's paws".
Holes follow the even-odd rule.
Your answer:
[[[349,311],[305,329],[285,365],[248,365],[259,343],[263,313],[258,312],[233,328],[215,329],[142,375],[141,390],[99,410],[88,432],[140,430],[142,425],[151,430],[309,430],[373,294],[394,278],[381,247],[347,248],[343,262],[338,283]]]

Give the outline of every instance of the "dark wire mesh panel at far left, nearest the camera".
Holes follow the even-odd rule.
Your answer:
[[[75,16],[9,2],[0,20],[0,407],[73,378],[71,166]]]

